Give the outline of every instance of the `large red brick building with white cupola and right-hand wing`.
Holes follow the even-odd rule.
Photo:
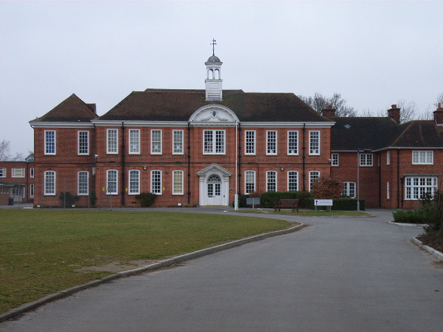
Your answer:
[[[205,90],[134,91],[100,117],[71,95],[30,121],[34,204],[61,206],[68,192],[76,206],[92,195],[139,206],[136,194],[153,192],[156,206],[230,205],[235,193],[307,191],[333,174],[367,206],[412,208],[439,185],[441,107],[406,124],[395,105],[386,118],[320,116],[293,93],[223,90],[219,58],[205,64]]]

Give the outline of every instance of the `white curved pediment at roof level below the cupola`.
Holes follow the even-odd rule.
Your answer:
[[[210,104],[200,107],[190,116],[192,124],[235,124],[239,121],[235,113],[226,106]]]

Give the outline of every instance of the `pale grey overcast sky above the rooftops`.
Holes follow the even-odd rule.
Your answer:
[[[28,121],[75,93],[102,115],[132,91],[341,93],[359,111],[443,92],[443,1],[2,1],[0,140],[33,151]]]

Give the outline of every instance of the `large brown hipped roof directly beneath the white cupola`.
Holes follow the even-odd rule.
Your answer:
[[[207,101],[205,90],[133,91],[99,120],[188,121],[208,104],[221,104],[243,122],[327,122],[293,93],[224,90],[223,100]]]

